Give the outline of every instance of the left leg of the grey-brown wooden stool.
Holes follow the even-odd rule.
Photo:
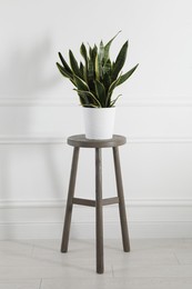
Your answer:
[[[72,216],[72,199],[74,196],[78,159],[79,159],[79,148],[74,148],[73,157],[72,157],[72,165],[71,165],[71,176],[70,176],[70,182],[69,182],[68,201],[67,201],[67,208],[65,208],[64,227],[63,227],[63,235],[62,235],[62,242],[61,242],[61,252],[68,251],[68,242],[69,242],[69,233],[70,233],[71,216]]]

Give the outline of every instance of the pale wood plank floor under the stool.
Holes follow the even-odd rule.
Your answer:
[[[0,289],[191,289],[192,239],[104,241],[104,275],[95,273],[93,240],[0,241]]]

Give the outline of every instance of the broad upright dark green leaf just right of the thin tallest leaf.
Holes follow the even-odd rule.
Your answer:
[[[122,67],[124,66],[125,58],[127,58],[127,51],[128,51],[128,41],[122,46],[117,60],[113,66],[112,70],[112,80],[115,80],[118,78],[119,72],[121,71]]]

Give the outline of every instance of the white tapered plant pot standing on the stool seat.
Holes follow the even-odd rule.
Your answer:
[[[85,138],[111,139],[113,136],[115,108],[82,108]]]

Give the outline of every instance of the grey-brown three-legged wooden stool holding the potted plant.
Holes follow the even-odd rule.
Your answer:
[[[67,201],[67,208],[65,208],[65,218],[64,218],[63,236],[62,236],[62,243],[61,243],[61,252],[68,251],[73,203],[95,207],[97,272],[98,273],[103,273],[103,271],[104,271],[102,206],[119,203],[123,249],[125,252],[130,251],[130,241],[129,241],[129,233],[128,233],[127,213],[125,213],[125,206],[124,206],[123,186],[122,186],[121,167],[120,167],[120,158],[119,158],[119,146],[122,146],[125,142],[127,142],[127,139],[122,136],[113,136],[112,139],[108,139],[108,140],[90,140],[90,139],[85,139],[85,137],[83,134],[72,136],[72,137],[68,138],[68,144],[74,147],[74,149],[73,149],[73,158],[72,158],[72,166],[71,166],[68,201]],[[80,148],[94,148],[95,149],[95,201],[88,200],[88,199],[81,199],[81,198],[74,198],[74,186],[75,186],[75,177],[77,177],[77,168],[78,168]],[[102,148],[112,148],[113,159],[114,159],[118,197],[108,198],[108,199],[102,199],[102,159],[101,159],[101,149]]]

